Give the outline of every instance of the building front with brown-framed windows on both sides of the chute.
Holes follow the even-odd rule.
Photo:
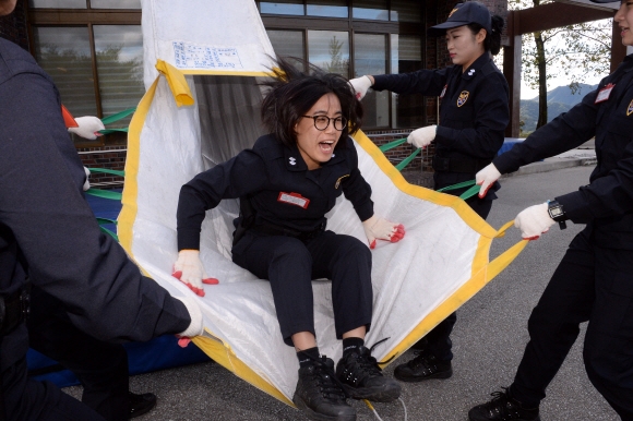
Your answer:
[[[255,1],[255,0],[253,0]],[[455,0],[277,0],[255,1],[266,33],[280,56],[298,57],[346,77],[399,73],[450,64],[444,39],[426,29],[444,22]],[[507,14],[505,0],[483,0]],[[182,3],[186,7],[186,2]],[[74,116],[111,116],[134,107],[143,95],[140,0],[24,0],[0,19],[0,36],[28,49],[57,84]],[[413,129],[437,123],[438,99],[370,93],[365,132],[383,144]],[[121,120],[112,127],[124,127]],[[109,127],[108,127],[109,128]],[[126,134],[96,141],[74,139],[87,167],[123,169]],[[387,153],[393,163],[413,152]],[[428,166],[428,157],[410,168]],[[120,183],[104,176],[99,183]]]

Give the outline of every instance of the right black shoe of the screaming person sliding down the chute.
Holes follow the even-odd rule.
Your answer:
[[[366,347],[344,356],[336,364],[336,376],[354,399],[391,402],[401,396],[398,382],[382,375],[375,358]]]

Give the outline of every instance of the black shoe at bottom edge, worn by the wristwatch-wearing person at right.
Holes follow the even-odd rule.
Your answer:
[[[493,398],[478,405],[468,411],[470,421],[540,421],[538,407],[523,408],[521,402],[504,388],[504,392],[493,392]]]

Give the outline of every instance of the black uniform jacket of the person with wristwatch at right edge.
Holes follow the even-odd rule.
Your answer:
[[[608,99],[598,94],[614,84]],[[557,197],[574,222],[594,226],[597,244],[633,250],[633,55],[581,104],[493,161],[502,173],[574,148],[596,136],[598,165],[590,184]]]

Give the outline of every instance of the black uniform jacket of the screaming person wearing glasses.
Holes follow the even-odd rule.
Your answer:
[[[255,225],[273,224],[310,232],[325,222],[325,214],[345,193],[360,220],[373,215],[371,188],[358,169],[351,139],[341,139],[332,159],[308,170],[296,145],[264,135],[252,149],[199,173],[182,187],[178,202],[178,250],[200,249],[204,213],[223,199],[250,196]]]

